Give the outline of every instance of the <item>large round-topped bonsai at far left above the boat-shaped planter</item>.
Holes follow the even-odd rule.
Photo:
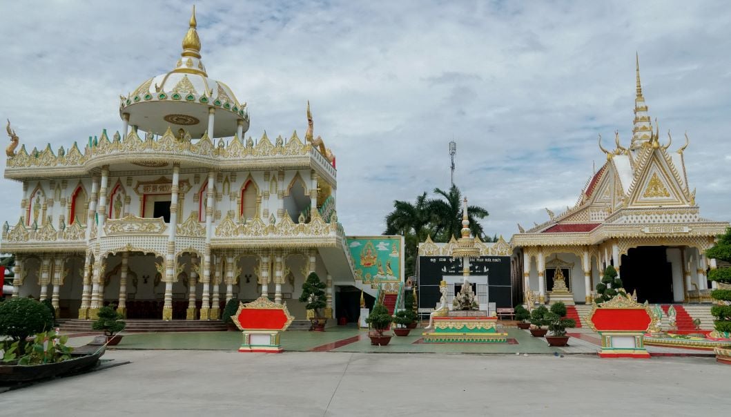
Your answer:
[[[0,336],[10,337],[23,350],[25,339],[53,327],[53,315],[32,298],[10,298],[0,303]]]

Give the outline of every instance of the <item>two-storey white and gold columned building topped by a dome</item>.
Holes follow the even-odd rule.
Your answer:
[[[315,138],[258,140],[246,102],[208,78],[195,10],[173,70],[120,96],[121,129],[26,150],[8,122],[7,179],[23,184],[1,252],[13,296],[50,298],[64,318],[117,304],[128,318],[209,320],[230,298],[297,301],[303,280],[355,285],[336,214],[336,163]],[[304,109],[303,103],[303,109]]]

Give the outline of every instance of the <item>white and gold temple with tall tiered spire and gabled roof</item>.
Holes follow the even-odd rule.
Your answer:
[[[523,272],[523,301],[591,303],[606,266],[618,271],[624,288],[640,302],[711,302],[706,278],[715,260],[705,249],[724,233],[727,222],[700,216],[689,184],[683,152],[673,138],[653,126],[640,84],[637,61],[635,120],[629,146],[615,135],[607,162],[586,182],[575,206],[548,211],[542,225],[512,236],[515,271]],[[518,272],[519,274],[519,272]]]

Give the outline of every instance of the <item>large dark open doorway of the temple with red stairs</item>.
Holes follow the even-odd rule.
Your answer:
[[[673,303],[673,268],[667,262],[667,247],[629,249],[627,255],[622,255],[620,278],[628,293],[637,290],[640,303]]]

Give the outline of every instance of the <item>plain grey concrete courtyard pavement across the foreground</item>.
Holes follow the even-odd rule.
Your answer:
[[[111,350],[0,394],[5,416],[728,416],[713,358]]]

